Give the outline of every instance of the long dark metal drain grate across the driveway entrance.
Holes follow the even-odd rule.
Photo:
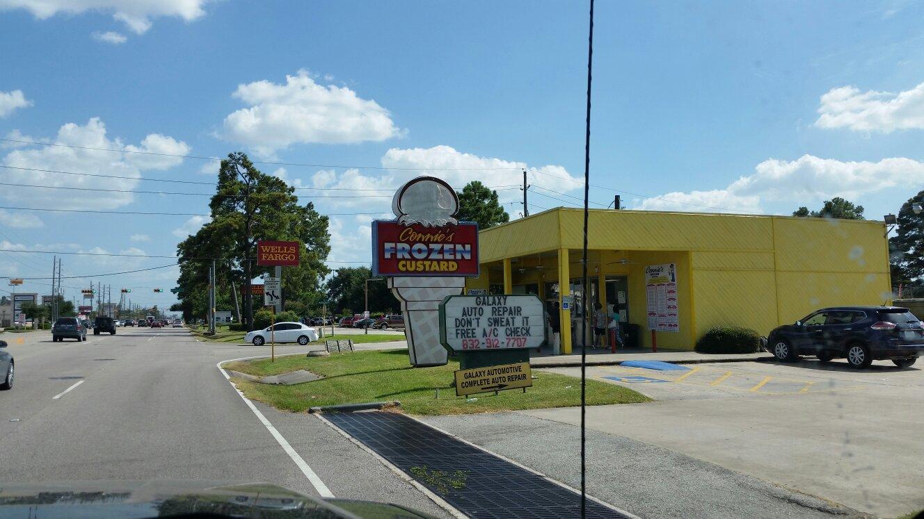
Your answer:
[[[469,517],[579,517],[580,496],[522,467],[395,413],[324,417]],[[594,501],[588,517],[626,516]]]

